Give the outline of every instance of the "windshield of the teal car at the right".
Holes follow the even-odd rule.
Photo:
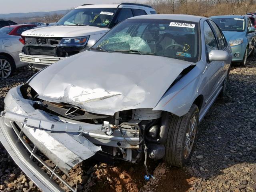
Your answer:
[[[245,21],[241,18],[212,18],[222,31],[244,31]]]

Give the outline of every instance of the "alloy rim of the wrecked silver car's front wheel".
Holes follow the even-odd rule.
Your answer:
[[[190,155],[190,152],[192,151],[193,144],[196,138],[196,129],[197,129],[197,115],[193,114],[188,124],[185,142],[184,142],[183,155],[185,159],[188,158],[188,156]]]

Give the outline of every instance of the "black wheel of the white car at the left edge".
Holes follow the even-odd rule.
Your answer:
[[[0,55],[0,79],[6,79],[12,76],[15,71],[15,64],[12,59]]]

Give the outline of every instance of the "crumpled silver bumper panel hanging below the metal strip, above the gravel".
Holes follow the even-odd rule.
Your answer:
[[[84,136],[22,127],[31,142],[65,174],[76,164],[101,150]]]

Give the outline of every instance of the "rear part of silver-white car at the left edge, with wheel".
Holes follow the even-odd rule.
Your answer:
[[[26,65],[19,59],[19,53],[24,46],[20,36],[0,32],[0,79],[8,78],[16,68]]]

